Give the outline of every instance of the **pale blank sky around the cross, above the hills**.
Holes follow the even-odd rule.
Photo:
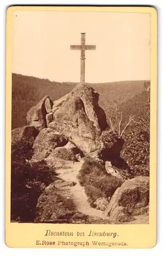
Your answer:
[[[125,12],[14,11],[13,73],[80,81],[81,32],[86,45],[85,81],[150,79],[150,14]]]

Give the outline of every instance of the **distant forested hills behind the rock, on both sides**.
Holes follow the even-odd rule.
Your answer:
[[[111,115],[114,111],[114,103],[117,103],[125,113],[125,117],[130,112],[143,115],[143,104],[147,96],[147,93],[144,93],[144,82],[144,80],[120,81],[88,83],[88,85],[100,94],[99,104],[104,109],[106,116]],[[70,92],[76,84],[12,74],[12,129],[26,124],[28,110],[45,95],[56,100]]]

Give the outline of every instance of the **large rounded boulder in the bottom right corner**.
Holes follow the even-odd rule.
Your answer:
[[[105,212],[114,223],[130,221],[141,215],[149,203],[149,177],[126,180],[113,194]]]

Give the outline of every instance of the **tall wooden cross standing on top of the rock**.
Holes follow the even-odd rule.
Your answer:
[[[96,46],[85,45],[85,33],[81,33],[81,45],[70,46],[71,50],[81,50],[80,83],[85,83],[85,50],[96,50]]]

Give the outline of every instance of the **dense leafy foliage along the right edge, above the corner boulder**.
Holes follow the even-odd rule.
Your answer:
[[[149,176],[150,168],[150,100],[146,103],[146,115],[124,135],[126,145],[123,158],[131,168],[132,177]]]

